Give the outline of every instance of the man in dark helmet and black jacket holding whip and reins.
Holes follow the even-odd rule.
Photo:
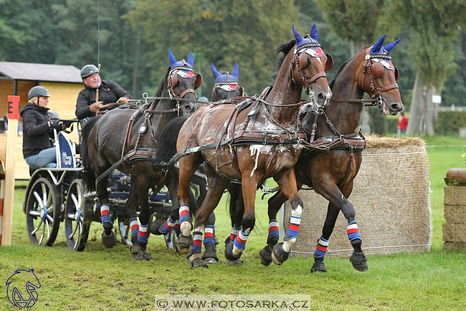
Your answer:
[[[84,88],[79,92],[76,100],[76,117],[84,119],[94,117],[99,107],[110,103],[128,103],[132,99],[130,93],[125,91],[114,81],[101,81],[99,69],[94,65],[86,65],[81,69],[81,78]],[[99,102],[96,102],[96,90],[99,88]],[[108,106],[106,110],[116,108]]]

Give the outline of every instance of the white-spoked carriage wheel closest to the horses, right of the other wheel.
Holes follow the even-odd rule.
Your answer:
[[[83,251],[86,247],[92,221],[91,206],[84,199],[83,185],[82,179],[71,183],[65,206],[65,234],[68,248],[73,251]]]

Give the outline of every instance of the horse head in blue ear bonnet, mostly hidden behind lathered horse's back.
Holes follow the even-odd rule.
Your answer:
[[[215,77],[215,85],[212,90],[212,100],[220,101],[223,99],[242,96],[244,93],[243,86],[238,85],[238,64],[234,65],[232,73],[228,71],[218,72],[214,64],[210,63],[212,73]]]

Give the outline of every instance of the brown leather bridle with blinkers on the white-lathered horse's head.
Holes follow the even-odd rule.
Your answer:
[[[305,35],[304,37],[309,37],[309,35]],[[314,92],[312,91],[311,83],[313,83],[314,81],[322,77],[327,78],[327,74],[325,72],[319,72],[313,75],[311,78],[308,78],[303,74],[302,69],[304,69],[309,64],[307,53],[304,52],[304,50],[311,48],[311,47],[320,48],[320,44],[318,42],[307,43],[307,44],[304,44],[302,47],[300,47],[299,50],[296,49],[294,51],[293,59],[291,60],[291,66],[290,66],[290,76],[293,82],[296,85],[300,86],[300,84],[296,82],[295,77],[293,75],[293,70],[296,67],[296,69],[298,69],[298,72],[300,74],[301,80],[304,81],[307,85],[307,87],[305,88],[306,94],[309,95],[311,99],[313,99]],[[325,53],[325,55],[327,56],[327,62],[325,63],[325,70],[330,70],[333,67],[333,58],[328,53]]]

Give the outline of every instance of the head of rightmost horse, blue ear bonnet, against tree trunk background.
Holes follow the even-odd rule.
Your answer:
[[[396,115],[404,106],[399,95],[398,68],[391,61],[390,51],[400,39],[383,46],[383,35],[372,47],[363,49],[365,54],[364,72],[361,83],[363,90],[371,98],[379,99],[379,110],[385,115]]]

